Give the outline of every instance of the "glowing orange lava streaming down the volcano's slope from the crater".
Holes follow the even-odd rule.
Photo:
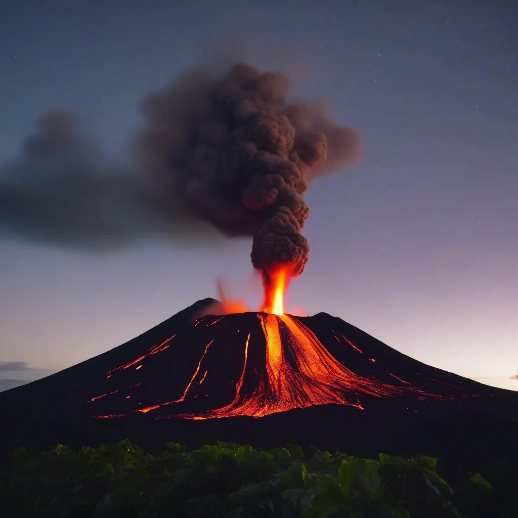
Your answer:
[[[221,408],[200,413],[179,413],[176,417],[184,419],[223,418],[237,415],[262,417],[293,408],[325,404],[349,405],[363,410],[358,397],[362,394],[396,397],[412,391],[420,397],[434,396],[416,387],[394,386],[375,378],[355,374],[339,363],[309,328],[290,315],[257,313],[257,318],[260,320],[266,338],[264,370],[257,372],[255,366],[248,363],[251,347],[249,333],[244,343],[243,367],[236,383],[233,400]],[[212,341],[207,344],[180,398],[133,411],[148,413],[187,400],[192,387],[202,384],[207,376],[207,369],[203,368],[203,363],[211,343]],[[357,348],[354,347],[354,349]],[[257,374],[259,378],[256,378],[254,386],[248,386],[247,390],[243,390],[244,382],[250,376],[254,377]],[[196,398],[196,395],[193,398]]]

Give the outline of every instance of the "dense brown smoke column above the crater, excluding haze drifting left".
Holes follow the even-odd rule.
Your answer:
[[[303,104],[287,104],[288,82],[240,64],[228,74],[187,76],[143,103],[144,155],[168,191],[223,232],[253,235],[252,263],[265,280],[294,277],[308,261],[300,229],[310,170],[348,161],[357,134]]]

